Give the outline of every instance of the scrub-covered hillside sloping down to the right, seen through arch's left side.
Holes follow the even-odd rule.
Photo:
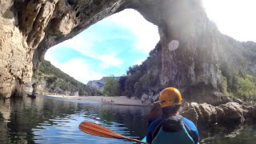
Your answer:
[[[34,73],[31,83],[33,82],[38,83],[38,92],[42,94],[102,95],[101,91],[78,82],[46,60],[42,61],[38,70]],[[31,83],[27,86],[30,87]]]

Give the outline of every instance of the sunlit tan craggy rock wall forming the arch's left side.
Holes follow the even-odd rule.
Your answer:
[[[22,96],[46,50],[113,14],[123,0],[0,1],[0,97]]]

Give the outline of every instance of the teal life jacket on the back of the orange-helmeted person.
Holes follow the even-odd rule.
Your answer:
[[[173,115],[162,121],[158,126],[160,130],[153,139],[152,144],[194,144],[193,138],[190,136],[191,131],[182,122],[182,115]]]

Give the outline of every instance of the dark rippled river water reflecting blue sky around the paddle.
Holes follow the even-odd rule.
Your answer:
[[[142,139],[148,106],[118,106],[98,102],[38,96],[0,101],[0,143],[131,143],[101,138],[78,129],[95,122],[118,134]],[[198,127],[201,143],[255,143],[256,124]]]

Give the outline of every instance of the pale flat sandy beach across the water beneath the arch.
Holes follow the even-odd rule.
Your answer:
[[[115,105],[129,105],[129,106],[150,106],[142,104],[140,99],[131,99],[126,96],[115,96],[115,97],[106,97],[106,96],[66,96],[66,95],[46,95],[53,98],[65,98],[78,101],[90,101],[90,102],[102,102]]]

